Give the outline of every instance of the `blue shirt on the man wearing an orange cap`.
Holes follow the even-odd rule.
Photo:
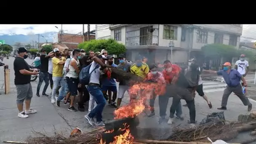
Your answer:
[[[231,69],[229,74],[224,70],[219,70],[217,75],[222,75],[228,86],[240,85],[241,74],[236,69]]]

